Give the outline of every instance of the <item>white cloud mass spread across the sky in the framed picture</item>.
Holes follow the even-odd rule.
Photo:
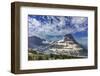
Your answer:
[[[45,39],[47,35],[62,36],[77,31],[84,31],[87,28],[87,26],[81,25],[86,21],[84,17],[72,17],[71,24],[73,24],[74,28],[69,27],[69,25],[66,27],[67,18],[65,17],[57,17],[60,21],[57,21],[53,16],[47,16],[47,18],[48,20],[52,18],[53,23],[50,21],[43,23],[35,18],[28,17],[29,36],[35,35]]]

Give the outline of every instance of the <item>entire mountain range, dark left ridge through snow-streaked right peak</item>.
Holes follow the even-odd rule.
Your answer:
[[[87,50],[71,34],[64,35],[62,40],[52,42],[32,36],[28,38],[28,48],[37,49],[38,52],[45,54],[87,56]]]

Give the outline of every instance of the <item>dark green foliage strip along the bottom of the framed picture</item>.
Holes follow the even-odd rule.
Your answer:
[[[35,50],[29,51],[28,60],[56,60],[56,59],[76,59],[79,57],[57,55],[57,54],[43,54],[38,53]]]

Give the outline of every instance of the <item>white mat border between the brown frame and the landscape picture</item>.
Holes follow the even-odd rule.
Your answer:
[[[92,66],[94,65],[94,11],[55,9],[41,7],[20,8],[20,69],[43,69],[58,67]],[[42,60],[28,61],[28,14],[35,15],[60,15],[60,16],[85,16],[88,17],[88,58],[69,60]]]

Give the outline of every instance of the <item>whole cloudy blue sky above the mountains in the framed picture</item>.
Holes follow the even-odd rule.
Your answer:
[[[66,34],[87,45],[88,18],[79,16],[28,15],[28,36],[57,41]]]

